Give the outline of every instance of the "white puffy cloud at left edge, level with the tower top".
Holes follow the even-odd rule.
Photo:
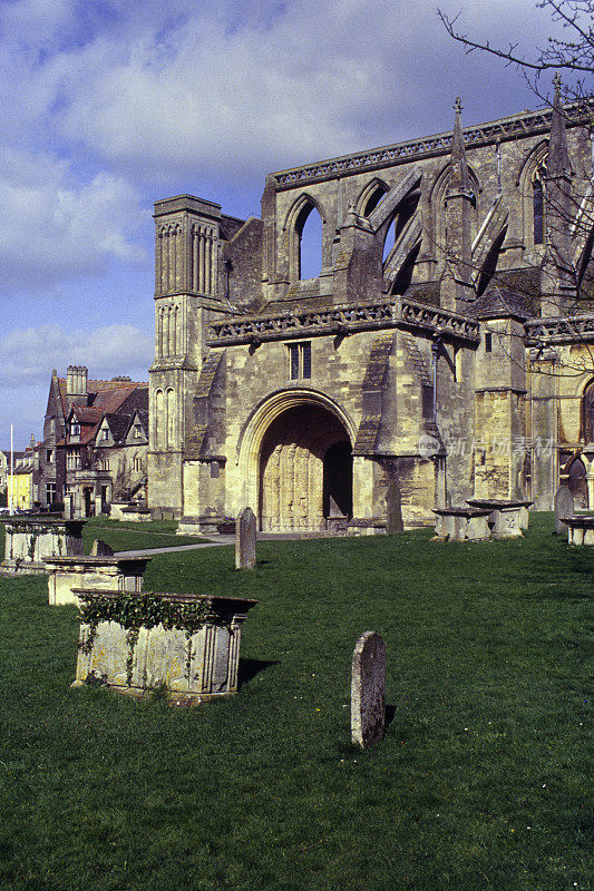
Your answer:
[[[136,189],[99,172],[78,183],[69,165],[47,155],[0,148],[2,286],[51,288],[97,275],[113,257],[147,260],[135,241],[148,218]]]

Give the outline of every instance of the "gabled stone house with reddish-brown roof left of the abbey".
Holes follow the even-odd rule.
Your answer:
[[[40,497],[74,516],[106,512],[113,499],[146,501],[148,385],[114,378],[91,381],[82,365],[51,375],[43,441],[39,446]]]

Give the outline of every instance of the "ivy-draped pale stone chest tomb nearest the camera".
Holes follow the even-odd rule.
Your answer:
[[[111,615],[118,608],[117,598],[121,604],[123,598],[129,603],[135,596],[97,589],[78,589],[76,594],[99,611],[103,598]],[[103,683],[137,697],[163,688],[171,698],[188,704],[237,692],[241,627],[256,600],[154,593],[136,596],[140,611],[147,613],[146,624],[137,631],[115,620],[99,620],[95,628],[81,620],[72,686]],[[204,609],[206,617],[194,631],[184,627],[168,629],[162,623],[154,624],[155,609],[158,613],[160,607],[173,607],[181,615],[184,608],[191,611],[196,607]]]

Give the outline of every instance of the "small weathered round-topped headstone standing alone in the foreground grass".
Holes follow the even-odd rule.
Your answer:
[[[381,740],[386,724],[386,644],[366,631],[352,654],[351,738],[361,748]]]

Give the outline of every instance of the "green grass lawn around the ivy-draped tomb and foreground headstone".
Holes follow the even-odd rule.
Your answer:
[[[0,580],[0,888],[593,891],[594,549],[430,530],[157,555],[148,590],[255,597],[232,699],[72,691],[77,623]],[[384,740],[350,745],[354,643]]]

